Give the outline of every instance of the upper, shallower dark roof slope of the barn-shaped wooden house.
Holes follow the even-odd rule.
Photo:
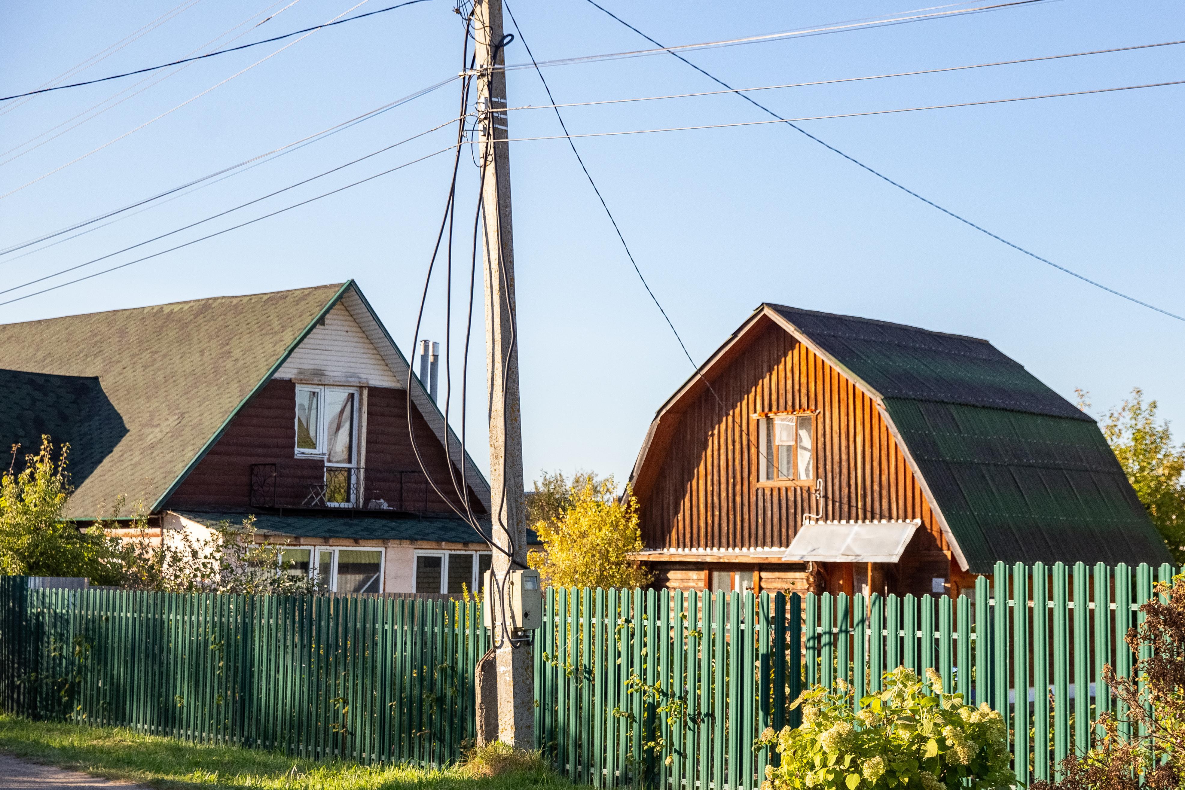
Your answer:
[[[986,340],[782,304],[769,307],[882,397],[1094,422]]]

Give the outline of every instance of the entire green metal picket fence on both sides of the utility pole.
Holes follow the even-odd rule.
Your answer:
[[[1008,724],[1020,782],[1125,711],[1102,668],[1168,565],[997,565],[973,596],[551,589],[534,632],[536,732],[595,786],[752,790],[766,727],[801,688],[937,669]],[[475,733],[475,603],[30,590],[0,577],[6,712],[310,758],[442,765]]]

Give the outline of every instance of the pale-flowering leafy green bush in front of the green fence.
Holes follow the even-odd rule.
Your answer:
[[[987,706],[963,705],[944,694],[942,679],[929,682],[898,667],[884,675],[884,691],[853,705],[843,680],[815,686],[795,700],[802,725],[766,730],[758,746],[776,746],[781,765],[766,769],[762,790],[941,790],[1004,788],[1016,782],[1008,767],[1008,731]],[[853,709],[856,708],[856,709]]]

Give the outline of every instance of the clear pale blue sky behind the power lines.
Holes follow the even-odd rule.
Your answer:
[[[233,43],[242,44],[321,24],[358,2],[299,0],[251,30],[289,1],[188,0],[177,6],[174,0],[6,0],[0,2],[0,95],[37,88],[177,8],[173,18],[73,79],[209,51],[236,36]],[[649,46],[584,0],[510,1],[540,60]],[[603,2],[667,45],[923,6],[908,0]],[[386,5],[391,1],[370,0],[352,13]],[[968,5],[953,6],[962,7]],[[250,14],[258,15],[233,27]],[[453,76],[460,68],[461,33],[449,0],[319,31],[118,142],[0,198],[0,249],[273,150]],[[1185,39],[1185,6],[1174,0],[1061,0],[687,57],[736,86],[757,86],[1176,39]],[[142,77],[0,105],[0,150],[8,152],[0,155],[0,193],[139,127],[288,41],[175,73],[155,72],[135,88]],[[507,59],[527,59],[520,43],[510,46]],[[559,102],[715,88],[666,54],[556,66],[545,73]],[[1173,79],[1185,79],[1185,45],[763,91],[760,101],[796,117]],[[530,70],[510,73],[508,92],[511,105],[547,103]],[[94,105],[110,109],[70,128],[90,117],[79,114]],[[24,257],[0,256],[0,288],[267,194],[444,123],[457,107],[454,82],[159,207],[44,250],[28,248],[38,251]],[[802,126],[1038,255],[1185,314],[1183,109],[1185,85],[1178,85]],[[736,96],[565,114],[576,134],[768,117]],[[550,110],[514,113],[510,126],[513,136],[559,134]],[[155,252],[395,167],[448,146],[453,135],[451,128],[442,129],[136,252]],[[1096,415],[1139,386],[1160,402],[1164,417],[1178,426],[1185,418],[1185,323],[1020,255],[793,129],[768,124],[591,137],[577,144],[697,362],[761,302],[781,302],[986,338],[1066,398],[1074,399],[1075,387],[1089,390]],[[590,469],[623,480],[654,411],[692,368],[630,268],[568,143],[514,143],[511,163],[527,480],[544,469]],[[2,306],[0,322],[352,277],[410,353],[450,168],[444,155],[412,165],[216,239]],[[476,168],[468,152],[461,174],[460,216],[462,225],[470,225]],[[457,316],[465,315],[467,245],[459,233],[455,339],[463,333]],[[139,255],[117,255],[77,274]],[[478,353],[469,366],[469,403],[478,419],[470,417],[469,442],[476,443],[474,455],[485,468],[480,306],[479,281]],[[444,339],[440,281],[430,291],[424,333]],[[459,340],[453,352],[459,379]],[[459,396],[457,387],[454,416]]]

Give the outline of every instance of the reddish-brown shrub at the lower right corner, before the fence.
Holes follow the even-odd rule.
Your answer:
[[[1103,667],[1110,693],[1127,713],[1098,718],[1102,737],[1084,756],[1071,754],[1057,782],[1032,790],[1173,790],[1185,786],[1185,576],[1155,586],[1140,606],[1144,622],[1126,641],[1142,656],[1127,676]],[[1120,725],[1126,725],[1121,731]]]

